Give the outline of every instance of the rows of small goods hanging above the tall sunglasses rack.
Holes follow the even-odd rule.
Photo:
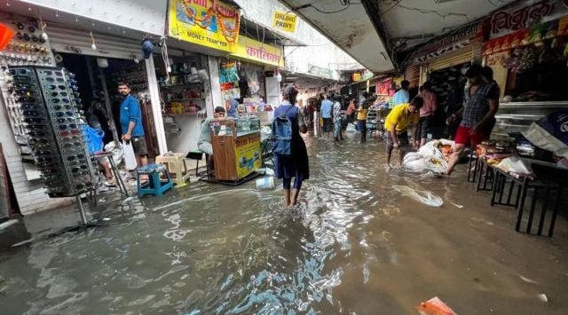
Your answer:
[[[44,35],[39,21],[17,15],[6,17],[0,13],[3,24],[14,32],[12,40],[0,51],[0,67],[44,66],[54,67],[55,59],[49,37]]]

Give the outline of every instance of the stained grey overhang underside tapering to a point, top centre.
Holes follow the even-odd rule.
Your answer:
[[[374,72],[394,69],[381,37],[358,1],[343,5],[330,0],[280,0],[309,21],[361,65]],[[346,3],[345,0],[342,1]],[[347,1],[348,3],[349,1]],[[337,12],[342,10],[341,12]],[[335,12],[335,13],[329,13]]]

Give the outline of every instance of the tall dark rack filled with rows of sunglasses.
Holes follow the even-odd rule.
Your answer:
[[[51,198],[93,189],[75,75],[61,67],[11,67],[24,129]]]

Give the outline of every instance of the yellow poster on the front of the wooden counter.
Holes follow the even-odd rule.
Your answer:
[[[237,156],[237,177],[247,177],[259,169],[262,163],[260,152],[260,132],[254,132],[237,138],[235,153]]]

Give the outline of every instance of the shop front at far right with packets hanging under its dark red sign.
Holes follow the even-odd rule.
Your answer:
[[[542,116],[568,106],[568,5],[524,1],[494,12],[484,43],[486,66],[501,87],[493,138],[526,130]]]

